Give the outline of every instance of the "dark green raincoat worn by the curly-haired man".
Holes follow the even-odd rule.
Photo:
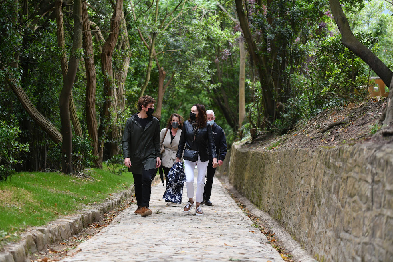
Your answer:
[[[143,129],[136,121],[137,114],[132,115],[125,123],[123,133],[123,156],[130,158],[129,172],[142,174],[145,170],[156,168],[156,158],[160,153],[160,121],[149,116],[150,121]]]

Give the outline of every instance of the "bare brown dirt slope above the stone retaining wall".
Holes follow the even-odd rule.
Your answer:
[[[356,143],[390,144],[393,143],[393,136],[384,137],[380,131],[382,122],[379,116],[386,106],[386,101],[387,98],[368,99],[358,104],[327,109],[312,119],[301,121],[294,130],[285,135],[267,140],[260,136],[252,143],[247,141],[243,146],[273,151]]]

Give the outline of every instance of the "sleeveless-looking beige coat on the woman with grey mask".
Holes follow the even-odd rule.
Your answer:
[[[176,153],[177,153],[177,148],[179,146],[179,141],[180,141],[180,135],[182,134],[182,130],[179,128],[177,130],[176,136],[173,138],[172,144],[171,144],[171,130],[169,129],[167,132],[167,135],[164,135],[165,132],[167,131],[167,128],[163,128],[160,133],[160,148],[162,144],[164,145],[164,152],[161,154],[161,165],[163,167],[171,168],[173,165],[173,162],[176,161]],[[164,141],[163,141],[164,139]]]

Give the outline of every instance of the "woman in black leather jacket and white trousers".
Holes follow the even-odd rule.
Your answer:
[[[213,157],[213,168],[217,167],[217,154],[213,131],[207,125],[206,109],[203,104],[194,104],[191,108],[190,118],[184,122],[176,162],[180,162],[184,150],[184,172],[187,179],[187,197],[189,198],[183,212],[189,213],[194,207],[194,170],[198,167],[196,180],[196,207],[195,214],[203,216],[200,209],[205,187],[206,170],[209,163],[209,154]]]

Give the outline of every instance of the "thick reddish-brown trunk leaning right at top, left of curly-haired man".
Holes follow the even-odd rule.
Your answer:
[[[110,34],[105,41],[105,44],[102,48],[101,52],[101,70],[104,76],[104,103],[103,103],[103,110],[101,112],[101,124],[99,126],[99,137],[100,139],[104,140],[104,133],[107,133],[108,126],[110,122],[117,123],[117,93],[115,92],[115,82],[114,82],[114,75],[113,75],[113,68],[112,68],[112,55],[114,48],[116,46],[116,42],[118,40],[119,35],[119,27],[120,27],[120,18],[121,13],[123,12],[123,0],[116,0],[116,6],[113,11],[112,19],[110,22]],[[109,110],[110,109],[110,110]],[[114,112],[113,119],[111,119],[111,112]],[[108,137],[110,140],[110,148],[109,154],[110,156],[117,155],[119,153],[118,147],[118,137],[113,137],[112,135],[118,134],[117,126],[112,125],[111,137]],[[103,154],[103,141],[101,141],[101,150],[100,154]]]

